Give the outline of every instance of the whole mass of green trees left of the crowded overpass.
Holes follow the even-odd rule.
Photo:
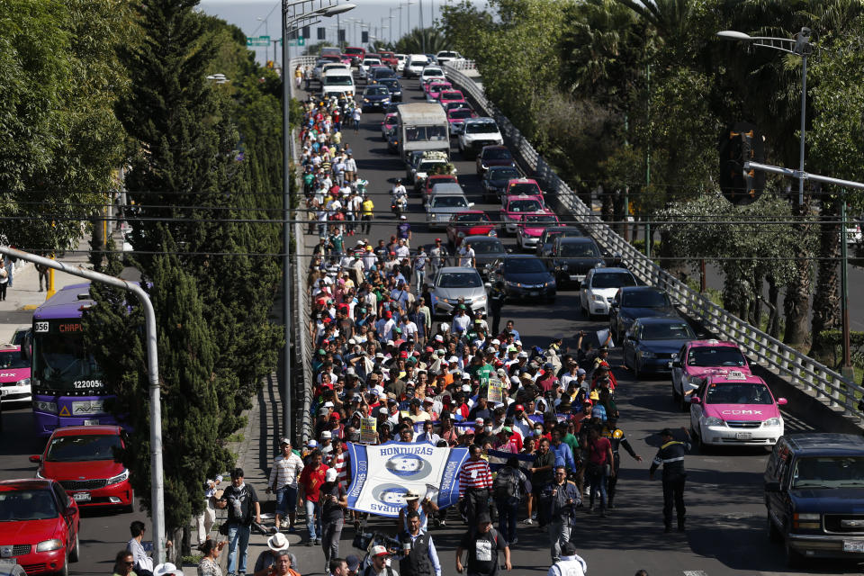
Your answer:
[[[281,279],[281,80],[238,28],[194,0],[16,1],[0,7],[0,209],[6,241],[73,247],[123,166],[132,264],[157,314],[166,524],[200,512],[275,367]],[[221,73],[228,84],[208,75]],[[263,223],[248,220],[263,220]],[[273,220],[269,223],[267,220]],[[122,269],[110,250],[97,267]],[[131,430],[124,464],[150,506],[148,381],[137,302],[103,285],[85,343]]]

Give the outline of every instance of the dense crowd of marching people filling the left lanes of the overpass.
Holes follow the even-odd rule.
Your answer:
[[[374,419],[373,443],[464,447],[470,456],[460,473],[458,510],[439,510],[410,492],[397,532],[415,545],[406,545],[404,554],[371,547],[363,573],[438,576],[428,530],[460,519],[470,531],[457,550],[458,572],[466,568],[463,552],[469,573],[498,572],[498,555],[482,554],[498,549],[509,569],[520,524],[545,530],[553,563],[575,563],[585,572],[571,527],[581,514],[604,517],[615,508],[620,449],[642,460],[617,426],[608,348],[592,347],[585,333],[573,337],[572,353],[563,338],[527,347],[512,320],[491,329],[464,303],[450,317],[436,318],[426,276],[417,272],[432,275],[447,264],[446,252],[438,243],[430,257],[402,234],[369,236],[374,204],[343,132],[353,116],[335,100],[305,105],[303,187],[309,232],[320,238],[307,284],[314,437],[306,446],[283,440],[270,478],[276,527],[287,522],[296,530],[294,507],[302,500],[306,543],[322,546],[333,572],[331,563],[342,562],[344,524],[365,523],[347,510],[347,443],[359,442],[362,422]],[[348,565],[355,558],[348,560],[356,571]]]

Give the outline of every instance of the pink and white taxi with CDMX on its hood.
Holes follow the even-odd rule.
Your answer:
[[[690,429],[699,448],[774,446],[783,436],[779,407],[759,376],[730,371],[707,376],[690,398]]]

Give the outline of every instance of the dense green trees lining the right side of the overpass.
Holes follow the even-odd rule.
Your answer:
[[[638,218],[671,220],[660,227],[664,266],[713,259],[725,273],[726,307],[754,322],[767,280],[773,305],[784,293],[786,342],[820,352],[818,335],[840,326],[843,191],[808,186],[798,207],[788,193],[797,183],[770,178],[746,210],[716,200],[717,135],[734,121],[760,126],[771,164],[797,166],[800,58],[716,32],[789,38],[812,29],[807,169],[860,181],[862,4],[490,0],[486,9],[459,2],[442,10],[447,40],[477,61],[491,100],[575,190],[602,191],[606,219],[623,220],[627,191]],[[860,194],[845,192],[860,209]],[[704,225],[734,220],[752,223]]]

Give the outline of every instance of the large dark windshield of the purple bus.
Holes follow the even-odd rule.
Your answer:
[[[33,331],[34,388],[64,392],[102,388],[102,373],[84,347],[80,319],[38,322]]]

